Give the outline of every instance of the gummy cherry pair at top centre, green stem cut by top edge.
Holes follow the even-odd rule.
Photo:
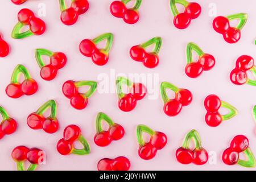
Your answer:
[[[114,1],[110,5],[110,13],[117,17],[122,18],[123,21],[129,24],[137,23],[139,20],[139,7],[141,7],[142,0],[136,0],[133,8],[127,9],[126,4],[131,0]]]

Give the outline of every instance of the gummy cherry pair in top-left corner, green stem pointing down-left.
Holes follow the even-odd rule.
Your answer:
[[[27,38],[32,35],[42,35],[46,31],[46,24],[40,18],[37,18],[29,9],[22,9],[18,13],[19,22],[13,28],[11,36],[14,39]],[[24,26],[29,26],[30,30],[21,32]]]

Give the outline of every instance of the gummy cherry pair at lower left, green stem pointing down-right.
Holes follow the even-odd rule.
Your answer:
[[[74,142],[77,140],[84,146],[84,148],[76,149],[74,147]],[[76,125],[68,125],[65,127],[63,138],[57,143],[57,151],[61,155],[86,155],[90,153],[90,146],[86,139],[82,137],[80,127]]]

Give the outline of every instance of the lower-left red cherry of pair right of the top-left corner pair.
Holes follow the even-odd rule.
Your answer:
[[[73,7],[69,7],[61,12],[60,19],[65,25],[72,25],[76,23],[78,16],[79,13]]]

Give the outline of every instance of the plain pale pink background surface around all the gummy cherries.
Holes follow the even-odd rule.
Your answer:
[[[141,18],[134,25],[126,24],[110,14],[109,5],[112,0],[90,0],[89,2],[90,9],[86,14],[81,15],[73,26],[65,26],[61,23],[57,0],[28,0],[20,6],[14,5],[9,0],[0,2],[0,31],[11,46],[10,55],[0,60],[0,104],[19,124],[18,130],[13,135],[6,136],[0,141],[0,169],[15,170],[11,151],[16,146],[26,145],[46,151],[46,164],[39,166],[39,170],[96,170],[98,160],[122,155],[130,159],[132,170],[245,170],[246,168],[238,165],[226,166],[222,163],[221,154],[237,134],[245,134],[249,138],[250,147],[256,154],[255,123],[251,115],[251,109],[256,104],[256,88],[249,85],[237,86],[229,80],[229,73],[238,56],[247,54],[256,57],[254,45],[256,2],[254,0],[247,0],[246,3],[239,0],[196,0],[203,11],[199,18],[192,20],[186,30],[177,30],[174,27],[169,0],[143,1],[139,10]],[[46,5],[46,17],[42,17],[47,24],[45,34],[22,40],[12,39],[11,31],[17,22],[18,11],[27,7],[36,13],[39,10],[39,3]],[[208,15],[210,3],[216,4],[217,15],[248,13],[249,18],[238,43],[226,43],[222,36],[213,30],[214,17]],[[94,38],[105,32],[113,32],[114,43],[109,63],[104,67],[98,67],[88,57],[82,56],[78,47],[82,39]],[[161,36],[163,39],[163,46],[159,53],[160,64],[155,69],[147,69],[142,64],[131,60],[129,49],[154,36]],[[196,79],[189,78],[184,73],[185,47],[188,42],[197,43],[205,52],[211,53],[216,58],[216,66]],[[39,67],[34,56],[36,48],[66,53],[67,65],[59,71],[55,80],[44,81],[40,78]],[[6,96],[5,87],[9,84],[11,73],[17,64],[24,64],[28,68],[32,77],[38,82],[39,90],[33,96],[23,96],[15,100]],[[118,109],[117,96],[114,93],[96,92],[84,110],[75,110],[69,105],[69,100],[61,93],[64,81],[97,80],[100,73],[109,75],[111,68],[115,69],[116,73],[159,73],[159,84],[162,81],[169,81],[180,88],[187,88],[193,93],[193,101],[191,105],[183,107],[176,117],[167,117],[163,113],[160,94],[156,100],[146,98],[139,101],[135,110],[130,113],[124,113]],[[204,98],[212,93],[239,110],[236,117],[223,122],[216,128],[209,127],[204,121]],[[55,134],[47,134],[42,130],[31,130],[26,123],[28,114],[51,99],[57,101],[59,131]],[[125,128],[126,134],[123,139],[112,142],[107,147],[98,147],[94,144],[95,121],[99,111],[105,112]],[[57,152],[57,140],[62,138],[65,126],[70,124],[81,127],[82,134],[90,143],[89,155],[63,156]],[[167,134],[166,147],[158,151],[152,160],[142,160],[137,154],[136,126],[138,124],[145,124]],[[176,148],[181,146],[185,134],[191,129],[199,131],[203,147],[208,152],[216,152],[216,164],[185,166],[176,161]]]

